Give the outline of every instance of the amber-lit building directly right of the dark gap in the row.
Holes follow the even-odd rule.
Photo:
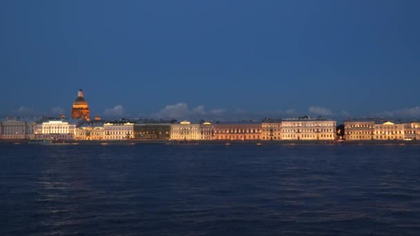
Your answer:
[[[375,121],[360,119],[344,121],[345,139],[347,140],[372,140],[374,139]]]

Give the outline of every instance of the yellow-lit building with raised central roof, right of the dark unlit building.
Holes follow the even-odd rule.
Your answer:
[[[190,121],[171,124],[171,140],[200,140],[200,136],[200,124],[191,124]]]

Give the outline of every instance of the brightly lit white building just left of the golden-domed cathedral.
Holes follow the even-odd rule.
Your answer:
[[[75,139],[75,124],[67,121],[45,121],[35,125],[37,139],[71,140]]]

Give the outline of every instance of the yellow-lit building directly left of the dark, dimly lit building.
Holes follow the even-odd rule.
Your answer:
[[[128,140],[134,138],[134,124],[125,121],[113,121],[104,124],[104,139]]]

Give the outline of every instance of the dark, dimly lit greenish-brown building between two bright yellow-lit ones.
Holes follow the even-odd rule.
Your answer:
[[[134,124],[134,138],[147,140],[169,139],[171,124]]]

